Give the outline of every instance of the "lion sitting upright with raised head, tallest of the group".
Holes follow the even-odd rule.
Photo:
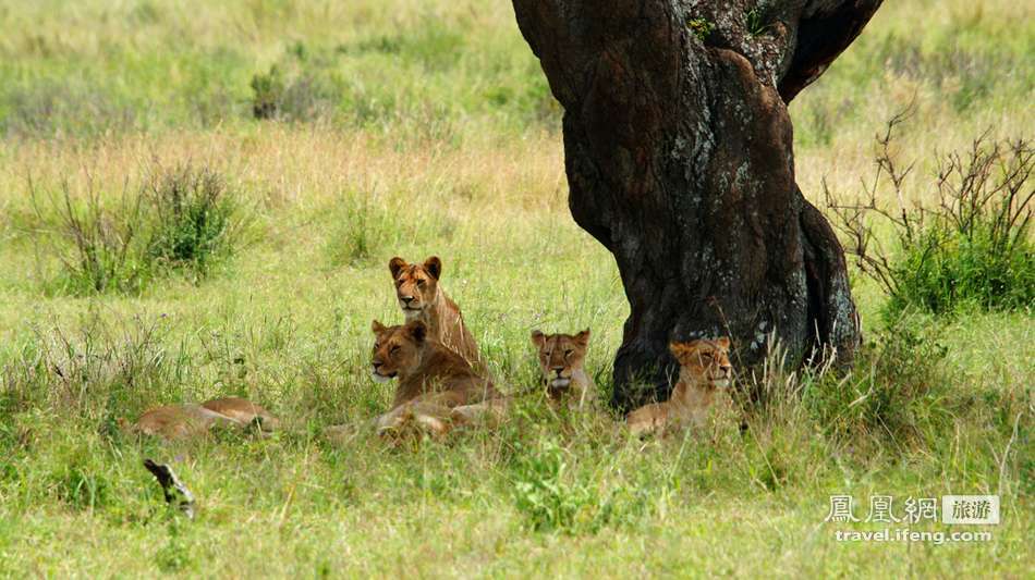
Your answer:
[[[442,261],[431,256],[424,263],[406,263],[395,257],[388,262],[388,269],[395,282],[395,297],[402,308],[406,322],[419,320],[427,328],[428,337],[441,343],[456,353],[471,365],[483,368],[478,345],[460,312],[442,287]]]

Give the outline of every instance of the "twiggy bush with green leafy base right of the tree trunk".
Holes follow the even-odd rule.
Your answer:
[[[913,165],[900,168],[890,152],[893,129],[906,114],[896,115],[878,138],[877,175],[864,200],[844,203],[825,188],[827,207],[848,237],[845,251],[888,294],[889,317],[911,306],[935,313],[1031,308],[1035,150],[1024,139],[989,144],[983,135],[965,153],[938,161],[936,206],[906,207]],[[891,182],[897,207],[878,203],[881,177]],[[891,230],[896,252],[880,245],[875,222]]]

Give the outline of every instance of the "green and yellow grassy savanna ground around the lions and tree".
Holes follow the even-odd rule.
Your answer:
[[[506,388],[535,381],[532,329],[586,326],[610,388],[626,304],[568,212],[559,110],[508,2],[3,1],[0,29],[3,575],[1032,575],[1031,305],[896,326],[854,267],[853,374],[760,379],[743,433],[641,443],[531,399],[446,443],[320,437],[390,400],[367,359],[370,320],[401,320],[394,255],[442,257]],[[790,108],[803,190],[857,192],[909,102],[894,151],[921,201],[936,151],[1032,137],[1033,53],[1025,2],[888,2]],[[176,183],[215,192],[210,233],[169,218]],[[215,395],[285,429],[114,429]],[[195,521],[143,457],[173,461]],[[988,542],[839,543],[885,526],[824,522],[833,494],[864,518],[872,495],[901,516],[986,493]]]

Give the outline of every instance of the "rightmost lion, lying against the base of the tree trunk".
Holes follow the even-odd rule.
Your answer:
[[[672,343],[669,350],[680,365],[679,382],[665,403],[652,403],[629,414],[626,422],[634,435],[663,433],[687,423],[702,427],[717,390],[729,386],[732,378],[729,338]]]

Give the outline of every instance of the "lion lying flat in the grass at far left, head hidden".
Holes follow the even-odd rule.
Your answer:
[[[214,427],[244,429],[254,424],[269,432],[278,425],[269,411],[239,397],[215,398],[200,405],[162,405],[147,410],[134,423],[121,423],[129,433],[167,440],[203,435]]]

